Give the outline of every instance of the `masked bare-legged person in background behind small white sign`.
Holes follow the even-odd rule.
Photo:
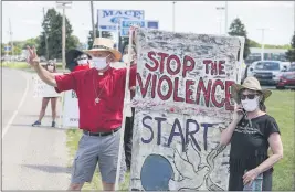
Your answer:
[[[46,71],[50,73],[56,73],[56,63],[53,60],[48,61],[46,65],[44,66]],[[56,119],[56,104],[57,97],[43,97],[42,98],[42,106],[39,114],[39,119],[32,124],[33,127],[41,126],[41,121],[45,115],[49,102],[51,100],[51,111],[52,111],[52,124],[51,127],[55,127],[55,119]]]

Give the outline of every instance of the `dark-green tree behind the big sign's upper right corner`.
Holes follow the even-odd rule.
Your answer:
[[[244,55],[243,55],[243,58],[245,60],[247,55],[250,54],[250,46],[249,46],[250,41],[246,36],[245,25],[242,23],[242,21],[239,18],[233,20],[233,22],[231,23],[229,34],[231,36],[244,36],[245,38]]]

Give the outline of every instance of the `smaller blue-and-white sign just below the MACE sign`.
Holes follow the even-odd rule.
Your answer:
[[[129,36],[129,29],[131,25],[138,25],[147,29],[159,29],[159,21],[150,20],[122,20],[120,21],[120,36]]]

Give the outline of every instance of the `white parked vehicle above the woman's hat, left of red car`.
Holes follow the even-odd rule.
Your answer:
[[[254,62],[247,67],[246,75],[256,77],[263,85],[276,85],[288,66],[288,63],[280,61]]]

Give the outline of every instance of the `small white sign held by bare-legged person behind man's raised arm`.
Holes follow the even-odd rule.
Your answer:
[[[59,75],[59,74],[55,74]],[[54,87],[45,84],[40,77],[34,74],[33,77],[33,97],[60,97]]]

